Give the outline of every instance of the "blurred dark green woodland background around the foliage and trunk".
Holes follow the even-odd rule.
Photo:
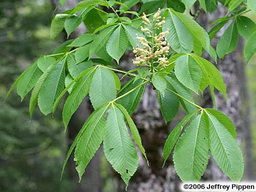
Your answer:
[[[54,8],[50,0],[0,1],[0,191],[75,191],[78,180],[59,181],[68,139],[60,112],[43,116],[37,111],[29,119],[29,97],[16,94],[4,102],[11,83],[40,54],[50,54],[60,44],[49,38]],[[250,16],[250,15],[248,15]],[[252,18],[256,22],[256,18]],[[251,110],[253,160],[256,164],[256,57],[246,68]],[[109,166],[100,160],[104,191],[114,191]],[[255,170],[256,171],[256,170]],[[67,174],[66,174],[67,175]],[[89,183],[90,184],[90,183]]]

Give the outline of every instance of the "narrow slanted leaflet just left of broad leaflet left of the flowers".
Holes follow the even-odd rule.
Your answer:
[[[111,33],[116,28],[117,25],[108,27],[100,32],[100,34],[93,40],[90,47],[90,54],[89,58],[91,58],[95,53],[97,53],[103,45],[108,41],[110,38]]]

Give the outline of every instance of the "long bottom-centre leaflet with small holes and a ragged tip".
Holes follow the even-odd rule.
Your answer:
[[[121,175],[126,186],[138,167],[138,156],[127,130],[122,112],[112,104],[106,119],[103,139],[104,154],[113,168]]]

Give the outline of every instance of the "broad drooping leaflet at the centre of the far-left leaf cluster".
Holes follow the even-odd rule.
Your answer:
[[[54,101],[65,87],[65,62],[66,59],[57,62],[42,83],[38,94],[38,106],[45,115],[52,112]]]

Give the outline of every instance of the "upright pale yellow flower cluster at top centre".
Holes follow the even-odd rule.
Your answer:
[[[141,31],[146,33],[146,37],[139,37],[137,39],[143,48],[139,45],[134,48],[133,53],[136,55],[133,60],[134,65],[148,66],[148,67],[163,67],[168,65],[168,59],[166,55],[169,53],[170,46],[165,41],[164,36],[169,31],[163,31],[159,34],[156,31],[160,30],[165,23],[165,17],[161,17],[161,10],[159,9],[153,16],[153,20],[148,19],[143,13],[142,20],[145,27],[141,27]],[[147,40],[150,39],[150,40]]]

